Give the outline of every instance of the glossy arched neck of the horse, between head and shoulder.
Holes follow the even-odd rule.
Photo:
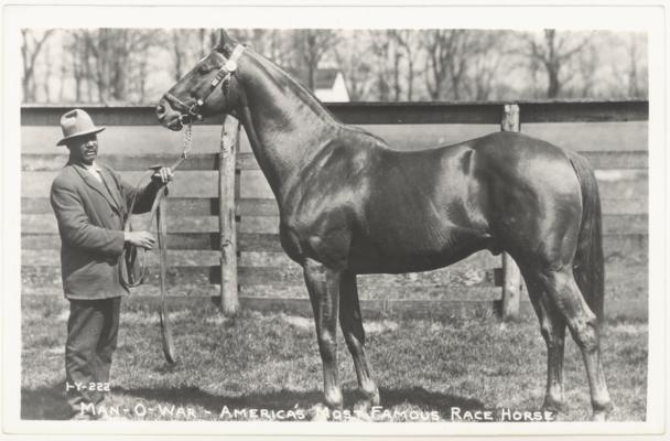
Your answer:
[[[274,195],[336,136],[338,125],[310,93],[255,53],[240,64],[238,108],[249,143]]]

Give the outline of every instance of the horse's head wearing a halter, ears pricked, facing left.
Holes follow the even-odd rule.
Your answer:
[[[155,115],[164,127],[181,130],[209,115],[230,112],[238,98],[237,60],[244,46],[220,31],[209,55],[182,77],[159,101]]]

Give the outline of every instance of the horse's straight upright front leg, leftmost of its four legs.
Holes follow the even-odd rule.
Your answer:
[[[323,362],[323,389],[326,405],[342,409],[342,389],[337,373],[337,314],[342,272],[306,259],[303,265],[305,283],[316,323],[316,338]]]

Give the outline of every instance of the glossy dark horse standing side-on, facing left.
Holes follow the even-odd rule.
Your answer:
[[[162,126],[233,115],[279,206],[285,254],[302,266],[325,405],[342,409],[337,324],[368,406],[379,390],[365,348],[357,275],[426,271],[488,249],[520,268],[548,349],[542,408],[565,406],[565,327],[579,345],[594,420],[613,408],[599,349],[604,259],[598,187],[586,160],[517,132],[398,151],[339,122],[278,65],[225,31],[160,99]]]

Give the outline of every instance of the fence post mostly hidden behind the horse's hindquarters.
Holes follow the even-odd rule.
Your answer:
[[[502,110],[500,130],[519,131],[519,106],[506,104]],[[507,252],[502,252],[502,308],[504,320],[515,320],[519,316],[519,298],[521,294],[521,271]]]

